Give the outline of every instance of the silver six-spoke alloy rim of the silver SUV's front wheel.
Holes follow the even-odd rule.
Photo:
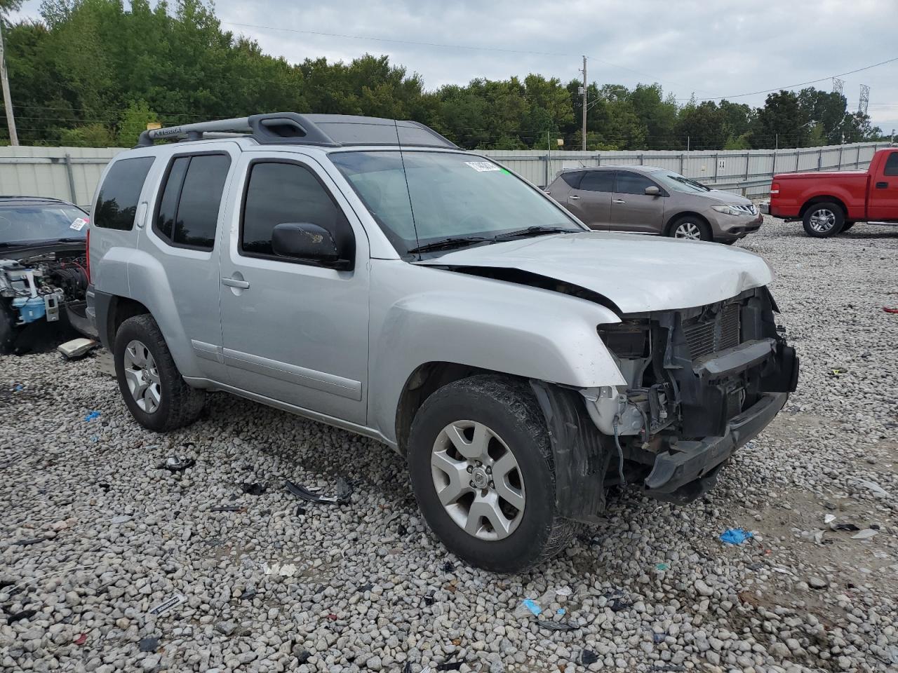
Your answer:
[[[455,421],[436,436],[430,456],[436,495],[469,535],[500,540],[524,516],[524,476],[515,454],[489,427]]]

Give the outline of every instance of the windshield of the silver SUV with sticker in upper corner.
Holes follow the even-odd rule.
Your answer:
[[[330,160],[401,255],[446,239],[492,242],[528,227],[583,231],[536,188],[471,154],[340,152]]]

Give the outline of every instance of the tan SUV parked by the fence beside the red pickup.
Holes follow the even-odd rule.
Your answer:
[[[733,243],[763,221],[747,198],[654,166],[562,170],[546,193],[592,229],[605,232]]]

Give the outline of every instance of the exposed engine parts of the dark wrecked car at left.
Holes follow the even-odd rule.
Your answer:
[[[0,297],[10,300],[14,324],[53,322],[59,319],[60,307],[84,302],[86,265],[83,251],[0,259]]]

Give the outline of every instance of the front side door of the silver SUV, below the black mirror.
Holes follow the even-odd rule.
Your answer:
[[[238,389],[365,423],[368,241],[346,198],[312,157],[245,153],[242,195],[221,255],[225,364]],[[354,246],[349,270],[278,257],[280,223],[313,223]],[[326,419],[325,419],[326,420]]]

